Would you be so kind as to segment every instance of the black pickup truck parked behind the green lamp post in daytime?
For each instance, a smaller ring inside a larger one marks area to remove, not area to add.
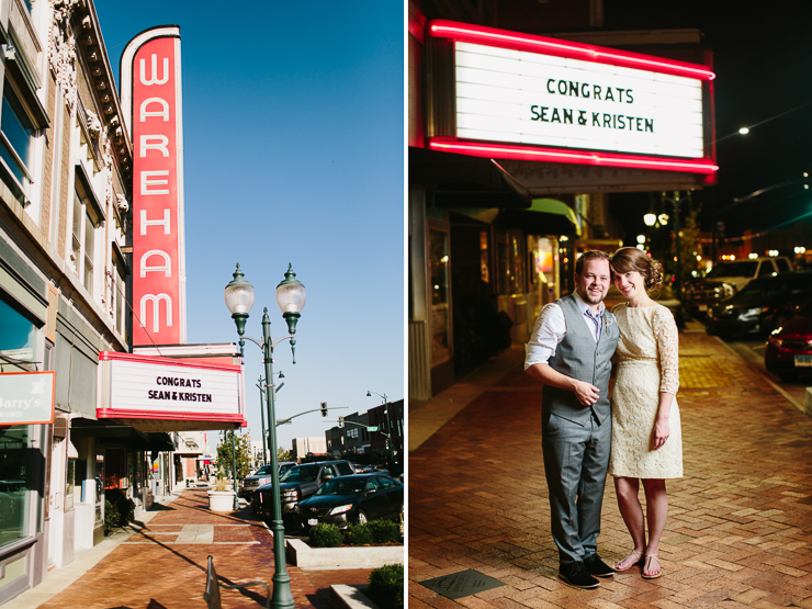
[[[289,527],[298,525],[295,509],[298,501],[313,495],[328,480],[349,476],[356,471],[349,461],[319,461],[291,467],[279,478],[282,520]],[[270,520],[273,518],[273,485],[260,486],[251,499],[251,514]]]

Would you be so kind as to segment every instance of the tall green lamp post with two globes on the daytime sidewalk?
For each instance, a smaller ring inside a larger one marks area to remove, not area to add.
[[[271,338],[271,318],[268,316],[268,308],[262,314],[262,340],[257,340],[245,336],[246,322],[248,314],[253,306],[253,286],[245,280],[245,275],[239,270],[234,272],[234,279],[226,285],[225,300],[232,318],[237,325],[239,335],[239,352],[244,357],[245,340],[248,339],[260,349],[264,356],[266,366],[266,401],[268,405],[268,442],[271,452],[271,484],[273,501],[273,519],[271,520],[271,531],[273,533],[273,596],[271,602],[275,609],[294,609],[293,594],[291,593],[291,577],[287,575],[285,565],[285,539],[284,525],[282,523],[282,506],[280,505],[279,492],[279,462],[277,455],[277,425],[274,413],[275,387],[273,385],[273,348],[282,340],[290,339],[291,351],[293,352],[293,363],[295,359],[296,322],[305,304],[305,287],[296,280],[296,273],[291,266],[287,267],[285,279],[277,286],[277,304],[282,311],[282,316],[287,322],[287,336],[277,341]]]

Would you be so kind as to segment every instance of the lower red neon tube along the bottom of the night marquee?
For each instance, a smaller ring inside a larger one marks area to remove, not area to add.
[[[571,162],[604,167],[628,167],[639,169],[659,169],[685,171],[688,173],[713,174],[719,166],[709,159],[670,159],[661,157],[636,157],[616,153],[579,151],[564,148],[535,148],[510,144],[492,144],[458,139],[454,137],[433,137],[429,148],[446,153],[458,153],[474,157],[495,157],[514,160],[542,160],[546,162]]]

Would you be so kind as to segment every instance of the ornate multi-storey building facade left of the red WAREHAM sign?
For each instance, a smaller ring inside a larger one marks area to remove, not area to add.
[[[129,196],[132,179],[123,178],[131,146],[117,127],[120,106],[92,1],[37,1],[29,11],[20,0],[0,0],[0,26],[9,38],[0,53],[7,101],[0,111],[7,135],[0,143],[0,327],[31,327],[22,347],[0,332],[0,363],[3,373],[54,370],[57,385],[55,425],[0,427],[1,439],[22,441],[31,459],[22,529],[0,530],[2,604],[100,540],[97,476],[104,449],[72,429],[78,419],[95,418],[99,351],[128,350],[108,279],[116,270],[112,241],[119,248],[128,241],[131,223],[117,195]],[[77,188],[83,190],[79,203]],[[94,237],[87,258],[82,228],[75,256],[75,207]],[[117,268],[126,281],[126,261]],[[125,464],[133,462],[122,454]]]

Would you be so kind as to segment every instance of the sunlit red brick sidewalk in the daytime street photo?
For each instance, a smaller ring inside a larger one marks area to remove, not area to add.
[[[207,556],[226,584],[266,582],[273,590],[273,538],[248,508],[208,510],[205,489],[185,490],[145,528],[41,609],[199,609]],[[331,584],[366,584],[370,569],[302,571],[287,565],[297,608],[327,609]],[[34,588],[36,590],[36,588]],[[223,607],[264,607],[262,586],[221,590]]]

